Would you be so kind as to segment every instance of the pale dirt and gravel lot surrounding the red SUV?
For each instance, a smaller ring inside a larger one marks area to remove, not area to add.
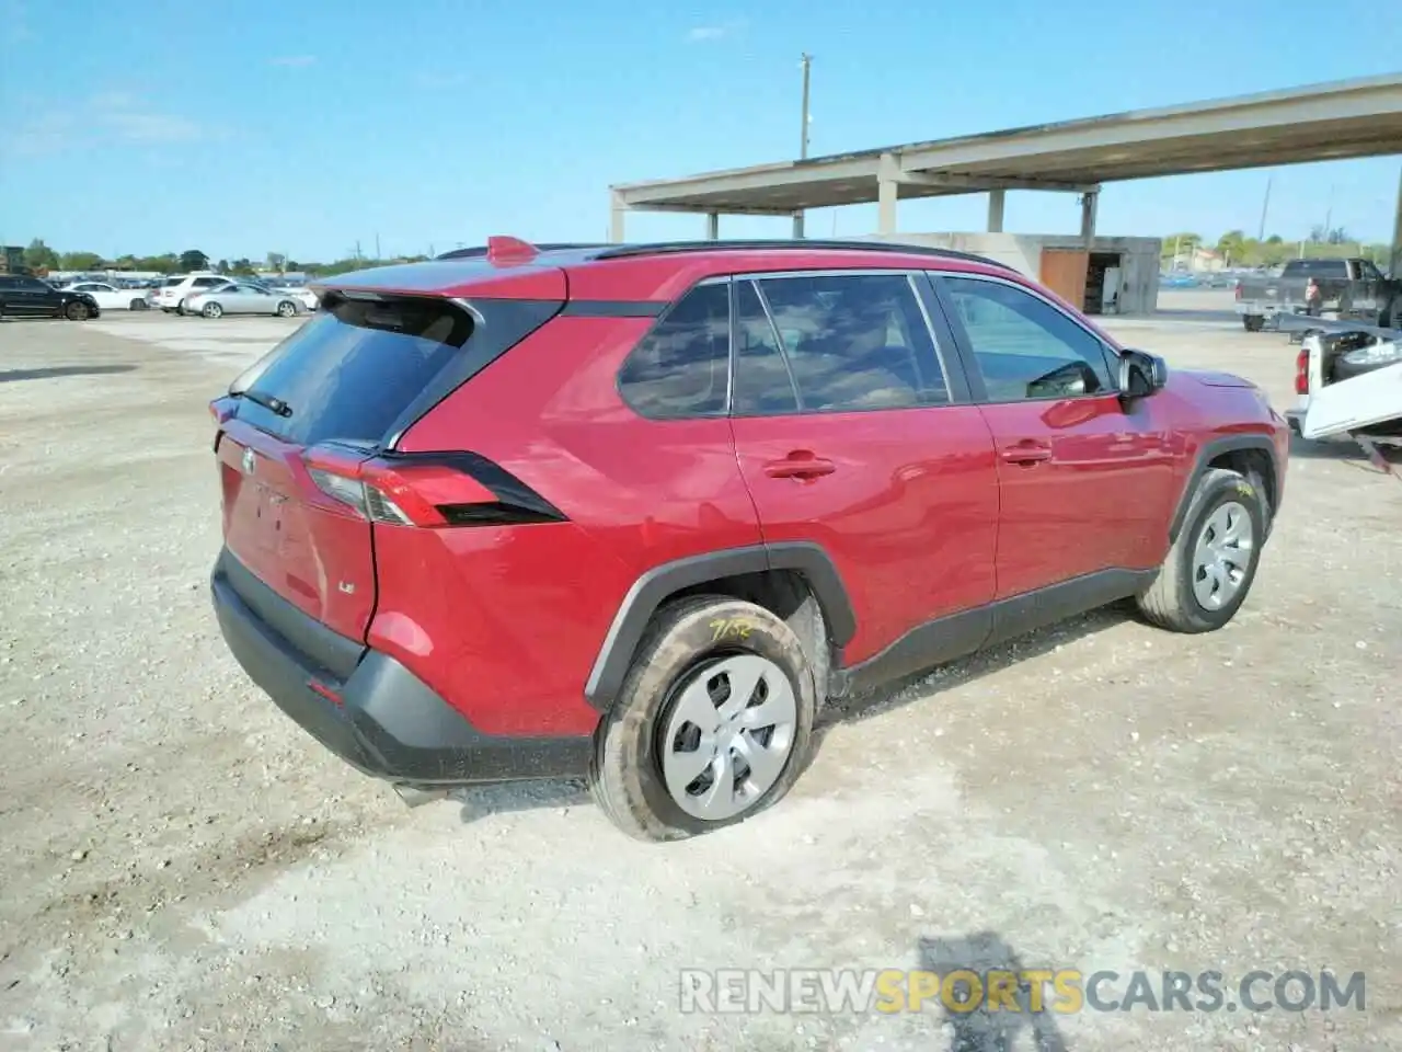
[[[1110,328],[1290,404],[1224,299]],[[1364,1011],[1088,1010],[1009,1052],[1402,1048],[1402,483],[1352,447],[1298,452],[1227,630],[1101,613],[949,666],[830,713],[782,807],[648,847],[572,785],[409,811],[238,673],[205,404],[285,330],[0,324],[0,1048],[974,1052],[934,1009],[681,1014],[679,972],[997,951],[1367,973]]]

